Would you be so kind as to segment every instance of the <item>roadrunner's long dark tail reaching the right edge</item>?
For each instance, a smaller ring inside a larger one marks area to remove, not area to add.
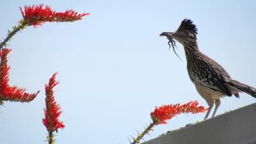
[[[228,84],[230,86],[233,86],[234,88],[237,88],[238,90],[241,90],[245,93],[248,93],[249,95],[252,95],[256,98],[256,89],[252,86],[248,86],[246,84],[240,83],[239,81],[231,79]]]

